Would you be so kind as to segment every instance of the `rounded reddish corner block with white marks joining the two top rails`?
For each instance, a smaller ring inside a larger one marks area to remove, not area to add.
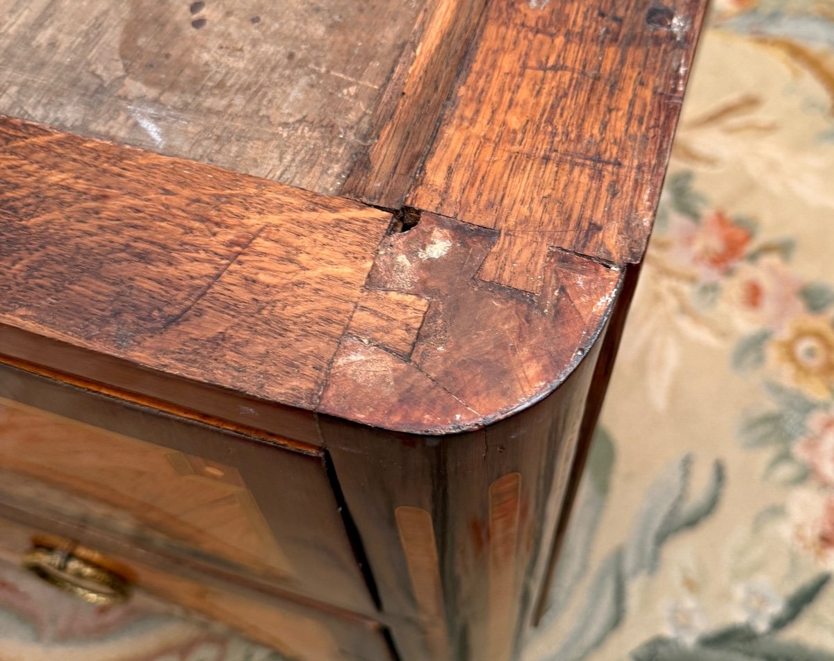
[[[395,432],[483,428],[551,393],[590,352],[622,272],[558,248],[539,293],[480,279],[499,232],[424,213],[384,239],[317,411]]]

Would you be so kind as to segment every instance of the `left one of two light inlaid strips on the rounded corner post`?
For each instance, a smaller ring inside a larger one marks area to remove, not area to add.
[[[394,515],[431,658],[433,661],[447,661],[450,659],[449,635],[431,515],[425,509],[408,506],[396,508]]]

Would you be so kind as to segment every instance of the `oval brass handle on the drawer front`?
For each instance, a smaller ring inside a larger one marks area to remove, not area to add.
[[[35,546],[23,556],[23,567],[64,592],[100,606],[124,603],[128,583],[118,574],[68,550]]]

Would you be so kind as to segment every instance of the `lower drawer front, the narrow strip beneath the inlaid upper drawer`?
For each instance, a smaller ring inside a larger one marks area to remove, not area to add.
[[[12,511],[4,509],[3,516]],[[43,519],[38,523],[43,523]],[[186,578],[159,564],[149,563],[151,556],[147,553],[141,562],[116,553],[101,553],[99,549],[82,546],[71,538],[43,533],[42,529],[33,528],[29,523],[0,517],[0,562],[18,566],[28,562],[31,565],[33,549],[46,553],[56,551],[84,569],[94,568],[96,573],[105,576],[125,578],[128,605],[133,600],[142,600],[143,593],[150,593],[165,602],[238,629],[287,658],[299,661],[392,661],[382,628],[374,621],[349,613],[311,608],[304,603],[251,590],[236,591],[234,586],[211,580]],[[160,560],[160,563],[164,564],[164,561]],[[73,583],[77,573],[80,572],[62,573],[65,577],[62,582]],[[90,578],[78,580],[84,589],[96,587]],[[55,589],[69,591],[66,586]],[[37,608],[38,604],[34,606]],[[119,605],[110,608],[119,608]]]

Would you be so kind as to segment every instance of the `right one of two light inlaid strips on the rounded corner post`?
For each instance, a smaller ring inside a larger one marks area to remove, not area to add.
[[[510,658],[514,638],[521,473],[490,485],[490,659]]]

